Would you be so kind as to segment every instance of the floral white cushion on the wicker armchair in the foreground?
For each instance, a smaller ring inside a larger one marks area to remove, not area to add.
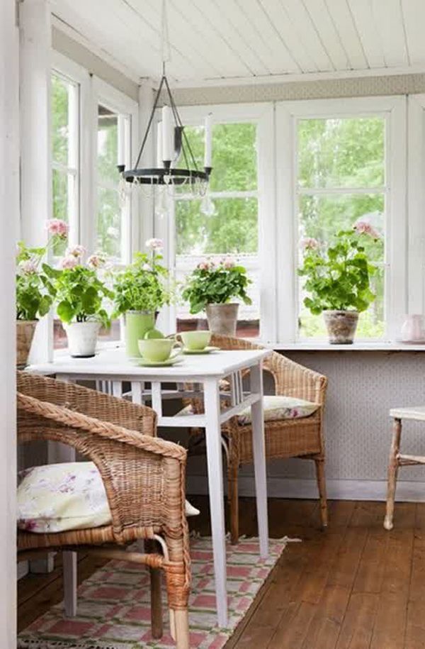
[[[63,462],[21,472],[18,528],[47,533],[110,525],[105,487],[94,462]],[[186,516],[198,509],[186,501]]]

